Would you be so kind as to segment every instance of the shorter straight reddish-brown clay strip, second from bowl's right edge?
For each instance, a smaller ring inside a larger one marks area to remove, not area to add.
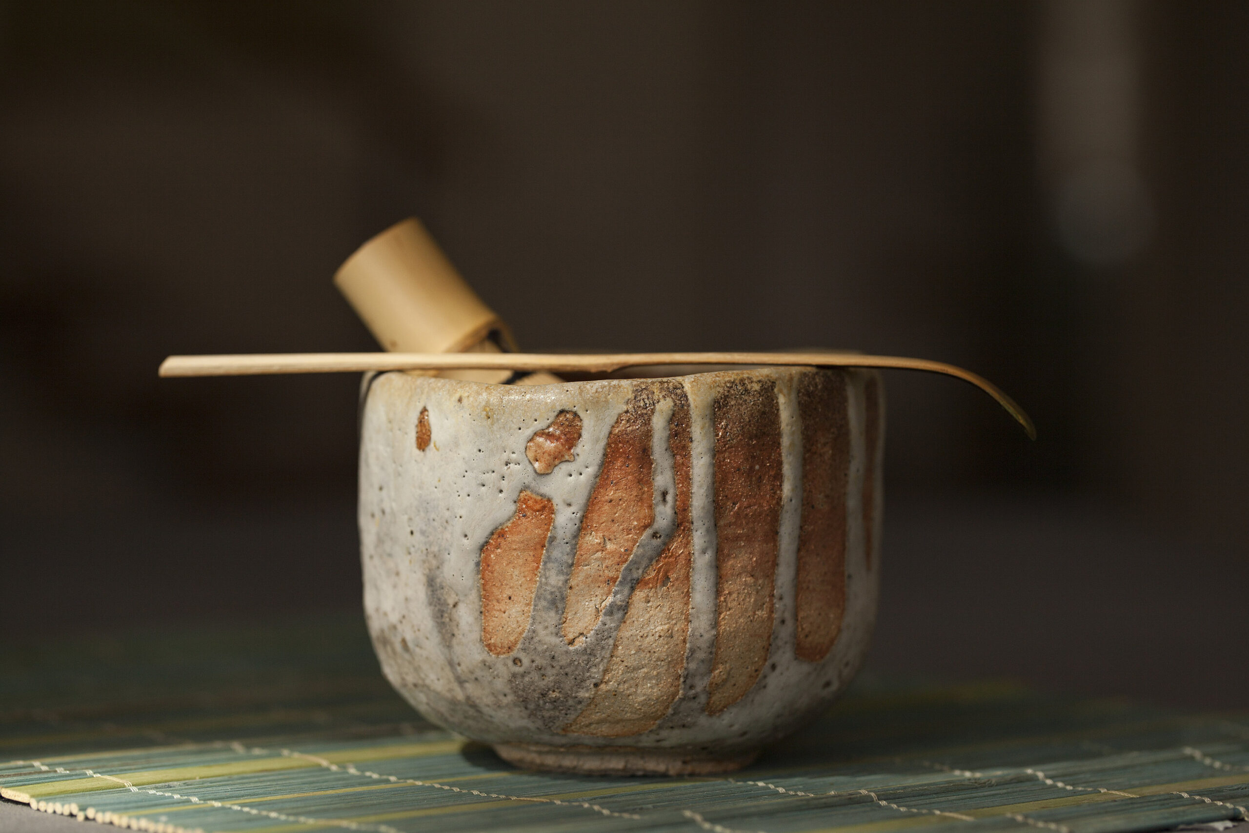
[[[798,383],[802,420],[802,523],[798,527],[799,659],[823,659],[846,612],[846,476],[851,433],[846,376],[813,373]]]

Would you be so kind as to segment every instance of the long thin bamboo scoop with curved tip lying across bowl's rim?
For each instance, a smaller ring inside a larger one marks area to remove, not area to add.
[[[953,376],[980,388],[1013,416],[1033,440],[1037,428],[1019,405],[983,376],[955,365],[906,358],[822,351],[802,352],[662,352],[662,353],[270,353],[236,356],[170,356],[160,366],[164,377],[264,376],[277,373],[358,373],[395,370],[508,370],[607,373],[646,365],[782,365],[814,367],[883,367]]]

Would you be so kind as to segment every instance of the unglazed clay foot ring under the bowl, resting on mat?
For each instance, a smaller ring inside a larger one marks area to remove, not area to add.
[[[759,757],[758,749],[738,756],[708,757],[681,751],[546,747],[532,743],[496,743],[495,752],[521,769],[581,776],[716,776],[736,772]]]

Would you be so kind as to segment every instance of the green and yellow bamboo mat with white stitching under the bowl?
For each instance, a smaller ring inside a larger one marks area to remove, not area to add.
[[[1249,714],[862,678],[717,778],[528,773],[425,723],[358,617],[0,647],[0,789],[145,831],[1112,833],[1249,816]]]

